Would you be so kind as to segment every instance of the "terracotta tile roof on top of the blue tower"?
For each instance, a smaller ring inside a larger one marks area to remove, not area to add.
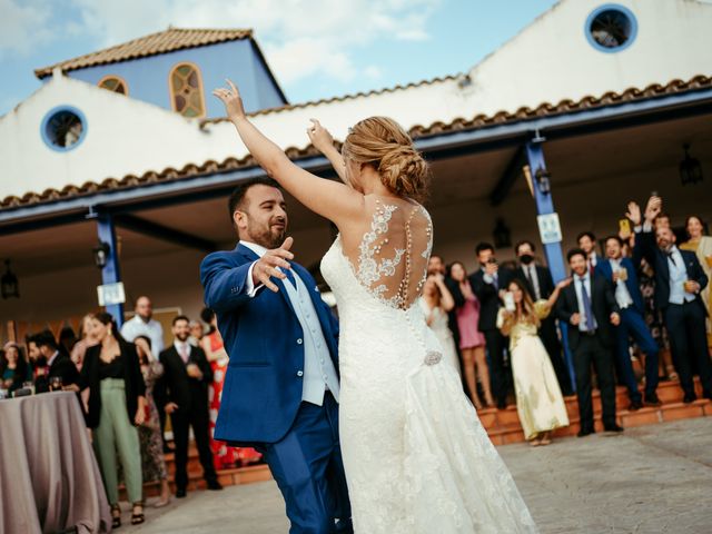
[[[57,67],[62,72],[83,69],[96,65],[115,63],[127,59],[145,58],[157,53],[172,52],[185,48],[196,48],[217,42],[251,39],[253,30],[219,30],[219,29],[181,29],[168,28],[165,31],[140,37],[115,47],[87,53],[78,58],[68,59],[59,63],[34,70],[34,76],[44,78]]]

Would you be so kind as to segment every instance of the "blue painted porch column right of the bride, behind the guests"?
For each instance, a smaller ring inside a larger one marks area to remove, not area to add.
[[[542,192],[541,186],[536,180],[536,172],[540,169],[542,171],[546,170],[546,160],[544,159],[543,149],[544,140],[545,139],[540,137],[537,134],[534,139],[526,144],[526,159],[528,161],[530,170],[532,174],[532,190],[534,191],[534,201],[536,202],[537,215],[548,215],[556,212],[556,210],[554,209],[554,198],[551,192],[551,184],[550,191]],[[564,261],[564,253],[561,248],[561,241],[544,244],[544,254],[546,255],[546,261],[552,273],[552,277],[554,278],[554,284],[557,284],[566,278],[566,263]],[[558,327],[561,328],[561,339],[564,346],[564,359],[566,362],[566,368],[568,369],[568,377],[571,378],[571,387],[575,392],[576,377],[574,375],[574,366],[571,359],[571,350],[568,349],[568,325],[560,322]]]

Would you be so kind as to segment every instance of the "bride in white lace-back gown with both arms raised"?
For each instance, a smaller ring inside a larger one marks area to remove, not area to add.
[[[251,125],[235,85],[214,91],[243,142],[339,237],[322,271],[340,316],[342,455],[357,533],[537,532],[417,305],[433,245],[427,164],[395,121],[355,125],[342,154],[307,135],[345,184],[294,165]]]

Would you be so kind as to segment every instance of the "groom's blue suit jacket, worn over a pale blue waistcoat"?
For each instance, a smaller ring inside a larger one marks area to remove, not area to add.
[[[212,253],[200,265],[205,303],[217,314],[230,360],[215,437],[236,444],[275,443],[291,427],[301,403],[303,330],[281,280],[279,293],[246,293],[257,255],[244,245]],[[334,366],[338,369],[338,325],[316,281],[301,266],[293,270],[309,288]]]

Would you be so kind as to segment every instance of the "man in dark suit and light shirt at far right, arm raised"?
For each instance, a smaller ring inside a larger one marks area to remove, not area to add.
[[[655,270],[655,307],[662,310],[670,337],[672,359],[680,375],[683,400],[691,403],[694,393],[693,368],[696,365],[702,392],[712,399],[712,363],[705,334],[706,310],[700,297],[709,280],[698,256],[675,246],[675,234],[659,226],[651,231],[661,202],[647,202],[645,225],[641,228],[641,210],[629,204],[629,218],[635,225],[635,248]]]

